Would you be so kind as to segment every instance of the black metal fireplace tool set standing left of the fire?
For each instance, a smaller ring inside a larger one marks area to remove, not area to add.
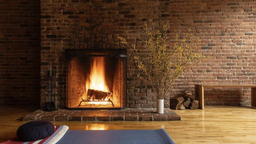
[[[48,70],[47,78],[47,103],[43,111],[56,111],[58,110],[55,107],[56,70]]]

